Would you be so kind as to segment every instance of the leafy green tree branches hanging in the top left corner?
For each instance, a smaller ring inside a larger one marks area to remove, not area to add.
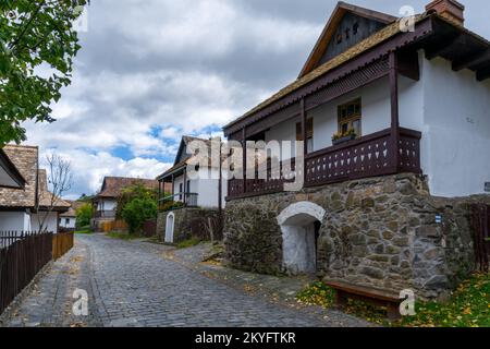
[[[21,123],[53,122],[81,46],[73,26],[87,0],[0,1],[0,148],[26,140]]]

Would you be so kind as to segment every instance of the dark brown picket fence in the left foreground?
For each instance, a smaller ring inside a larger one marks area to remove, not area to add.
[[[50,232],[0,232],[0,314],[51,257]]]

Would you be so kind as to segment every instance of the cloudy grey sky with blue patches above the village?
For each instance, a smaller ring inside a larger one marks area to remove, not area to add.
[[[353,0],[399,14],[429,0]],[[467,26],[490,27],[481,0],[464,0]],[[26,124],[26,144],[72,161],[69,198],[103,176],[155,178],[182,134],[208,137],[296,79],[332,0],[93,0],[73,84],[52,124]],[[42,157],[42,155],[41,155]]]

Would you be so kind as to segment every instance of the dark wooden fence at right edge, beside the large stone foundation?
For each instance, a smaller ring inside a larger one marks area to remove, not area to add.
[[[471,205],[471,229],[477,267],[481,272],[488,272],[490,267],[490,205]]]

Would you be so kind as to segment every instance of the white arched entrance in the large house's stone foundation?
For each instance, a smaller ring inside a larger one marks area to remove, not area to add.
[[[283,267],[291,274],[317,268],[318,231],[326,210],[310,202],[292,204],[278,216],[282,232]]]

